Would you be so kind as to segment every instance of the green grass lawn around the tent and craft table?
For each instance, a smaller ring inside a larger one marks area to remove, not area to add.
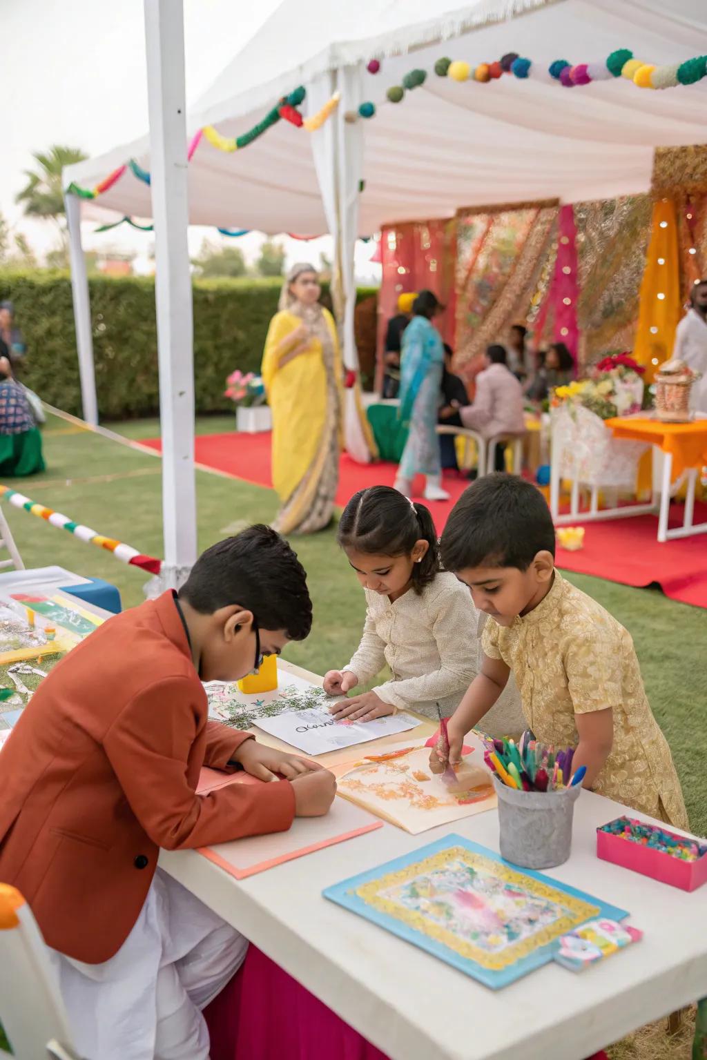
[[[197,421],[197,431],[202,434],[232,428],[233,417]],[[132,421],[112,425],[112,429],[140,440],[156,437],[159,422]],[[45,430],[45,454],[47,471],[42,475],[4,484],[99,533],[118,537],[142,552],[162,555],[161,462],[157,457],[71,427],[56,418],[50,418]],[[243,525],[268,523],[275,515],[276,498],[268,490],[206,472],[197,472],[196,485],[201,549]],[[112,582],[121,591],[124,606],[143,600],[142,586],[148,576],[142,571],[28,512],[7,504],[4,511],[28,567],[58,564]],[[365,615],[364,595],[339,553],[333,530],[298,538],[295,547],[307,570],[315,624],[308,640],[290,644],[285,656],[322,673],[343,665],[357,646]],[[707,611],[675,603],[654,589],[629,588],[581,575],[568,577],[633,634],[653,711],[672,747],[691,827],[704,835],[707,789],[701,778],[707,753],[703,661]],[[619,1055],[643,1054],[640,1048],[633,1052],[632,1045],[630,1052]]]

